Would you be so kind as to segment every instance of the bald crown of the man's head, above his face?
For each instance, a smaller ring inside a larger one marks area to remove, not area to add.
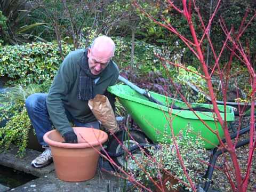
[[[103,35],[94,39],[91,50],[92,52],[98,52],[99,54],[113,57],[115,53],[115,43],[110,37]]]

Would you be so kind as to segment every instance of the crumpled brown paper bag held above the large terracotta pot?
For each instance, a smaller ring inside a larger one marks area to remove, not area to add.
[[[97,94],[94,99],[89,100],[88,105],[93,115],[108,132],[113,134],[119,130],[114,111],[105,95]]]

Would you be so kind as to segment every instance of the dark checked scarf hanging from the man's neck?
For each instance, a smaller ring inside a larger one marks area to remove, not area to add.
[[[94,79],[100,77],[102,72],[99,75],[93,75],[89,69],[87,50],[83,53],[81,62],[78,62],[78,65],[81,67],[79,73],[79,82],[78,82],[78,99],[79,100],[89,100],[95,97],[93,90]]]

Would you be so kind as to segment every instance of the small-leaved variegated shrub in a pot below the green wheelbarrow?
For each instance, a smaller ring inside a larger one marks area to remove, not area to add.
[[[202,175],[207,168],[204,162],[208,156],[202,139],[193,138],[189,131],[189,126],[186,130],[181,130],[175,137],[175,142],[186,172],[195,184],[204,180]],[[191,190],[174,145],[174,138],[171,137],[170,143],[170,137],[164,134],[164,141],[157,147],[148,147],[146,152],[142,151],[142,155],[133,160],[134,166],[130,171],[137,181],[153,191],[179,191],[180,188]]]

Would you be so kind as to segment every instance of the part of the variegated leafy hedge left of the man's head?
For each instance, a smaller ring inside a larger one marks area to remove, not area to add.
[[[66,55],[71,46],[63,45],[62,49]],[[0,49],[0,58],[0,74],[11,78],[9,84],[21,85],[41,84],[53,78],[61,63],[56,43],[4,46]]]

